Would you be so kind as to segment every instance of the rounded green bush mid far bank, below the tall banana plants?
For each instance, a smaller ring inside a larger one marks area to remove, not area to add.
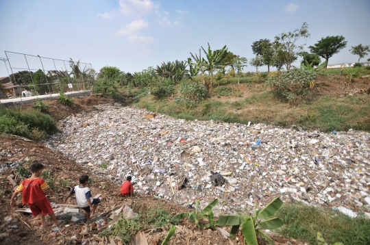
[[[184,81],[180,85],[182,96],[175,98],[176,103],[185,103],[189,107],[194,107],[199,101],[208,96],[206,87],[200,81]]]

